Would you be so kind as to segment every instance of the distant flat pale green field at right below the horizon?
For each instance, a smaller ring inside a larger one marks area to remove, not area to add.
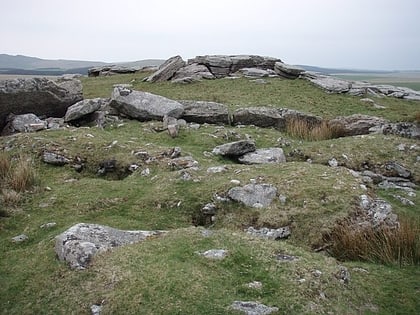
[[[393,73],[338,73],[334,76],[353,81],[367,81],[374,84],[389,84],[420,91],[420,71]]]

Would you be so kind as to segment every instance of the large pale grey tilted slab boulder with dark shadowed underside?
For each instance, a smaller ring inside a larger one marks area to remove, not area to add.
[[[110,106],[140,121],[162,120],[165,115],[179,118],[184,113],[184,107],[176,101],[118,86],[114,88]]]

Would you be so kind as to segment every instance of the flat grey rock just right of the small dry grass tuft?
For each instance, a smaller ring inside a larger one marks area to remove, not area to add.
[[[355,136],[368,134],[371,132],[371,128],[380,127],[387,122],[388,121],[380,117],[354,114],[334,118],[330,120],[330,126],[341,129],[346,136]]]

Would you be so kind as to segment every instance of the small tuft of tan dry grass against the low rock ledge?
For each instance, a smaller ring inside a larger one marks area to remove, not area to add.
[[[286,122],[286,132],[298,139],[309,141],[328,140],[340,137],[343,132],[336,126],[331,126],[328,121],[312,124],[306,120],[292,118]]]

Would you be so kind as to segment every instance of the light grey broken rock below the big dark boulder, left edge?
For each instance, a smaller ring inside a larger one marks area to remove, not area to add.
[[[18,132],[35,132],[43,129],[47,129],[47,123],[39,119],[35,114],[10,114],[1,134],[6,136]]]

